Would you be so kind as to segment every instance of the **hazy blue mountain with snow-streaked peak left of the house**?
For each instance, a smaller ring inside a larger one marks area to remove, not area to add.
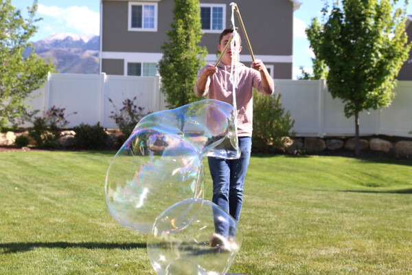
[[[98,74],[99,36],[61,32],[33,42],[34,52],[50,58],[60,73]],[[25,55],[30,50],[25,51]]]

